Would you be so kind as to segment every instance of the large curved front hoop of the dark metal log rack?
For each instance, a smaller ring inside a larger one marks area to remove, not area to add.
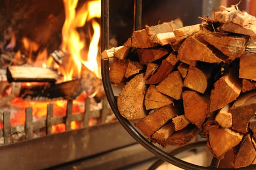
[[[109,0],[101,0],[101,52],[103,52],[108,47],[109,41]],[[110,104],[111,109],[113,110],[116,118],[119,120],[119,123],[125,128],[125,130],[140,143],[144,148],[154,153],[158,158],[166,161],[172,165],[183,169],[195,169],[195,170],[203,170],[203,169],[222,169],[222,170],[231,170],[234,168],[217,168],[217,167],[203,167],[188,163],[181,159],[178,159],[164,150],[158,148],[156,145],[150,143],[144,136],[142,136],[137,129],[129,122],[129,120],[123,118],[119,113],[117,108],[116,98],[114,96],[112,86],[109,78],[109,59],[101,59],[101,76],[103,87]],[[247,167],[236,168],[236,170],[248,170],[248,169],[256,169],[256,165],[250,165]]]

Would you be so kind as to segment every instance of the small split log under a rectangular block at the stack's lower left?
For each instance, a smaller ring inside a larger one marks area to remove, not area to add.
[[[165,141],[169,136],[175,132],[173,123],[168,123],[159,128],[153,135],[153,140]]]

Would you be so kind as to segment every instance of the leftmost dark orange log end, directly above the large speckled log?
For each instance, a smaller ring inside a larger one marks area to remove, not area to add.
[[[111,83],[123,83],[125,78],[125,72],[127,68],[127,62],[124,60],[114,59],[109,70],[109,78]]]

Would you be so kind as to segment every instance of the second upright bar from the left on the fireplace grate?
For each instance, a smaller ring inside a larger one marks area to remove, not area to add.
[[[32,108],[26,108],[26,123],[25,123],[25,133],[26,139],[33,138],[33,115],[32,115]]]

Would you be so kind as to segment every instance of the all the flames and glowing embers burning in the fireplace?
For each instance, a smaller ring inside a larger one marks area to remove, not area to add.
[[[100,19],[101,9],[100,0],[86,1],[82,6],[78,7],[78,0],[63,0],[65,6],[65,22],[62,27],[62,43],[60,50],[68,54],[67,66],[60,67],[59,70],[63,75],[63,80],[71,80],[79,78],[82,64],[100,77],[97,58],[99,58],[99,40],[100,40],[100,24],[97,20]],[[79,31],[80,30],[80,31]],[[81,31],[83,30],[83,31]],[[40,49],[39,44],[31,41],[29,38],[21,39],[23,51],[28,56],[27,63],[33,64],[36,67],[54,68],[57,63],[53,58],[49,57],[46,48]],[[89,43],[90,42],[90,45]],[[7,48],[15,46],[15,36],[12,35],[12,41]],[[35,52],[37,56],[35,55]],[[21,50],[14,57],[14,64],[19,65],[23,62]],[[36,58],[36,59],[35,59]],[[16,63],[17,61],[17,63]],[[30,83],[23,83],[30,86]],[[84,107],[81,107],[81,102],[85,101],[87,95],[82,93],[77,100],[73,101],[73,114],[84,112]],[[24,101],[15,98],[11,101],[16,108],[21,108],[15,113],[15,118],[11,120],[11,126],[25,124],[25,108],[33,106],[33,116],[35,118],[45,118],[47,112],[47,104],[53,104],[54,116],[63,116],[66,112],[67,101]],[[90,125],[93,124],[90,121]],[[0,128],[1,128],[0,124]],[[71,122],[71,129],[79,128],[79,122]],[[64,132],[65,124],[52,126],[52,133]]]

